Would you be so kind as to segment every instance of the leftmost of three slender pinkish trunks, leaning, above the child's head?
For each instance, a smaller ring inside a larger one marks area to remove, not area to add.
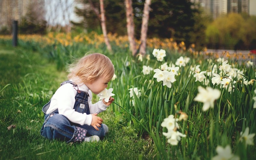
[[[105,23],[105,10],[104,10],[103,0],[100,0],[100,16],[101,16],[100,22],[101,22],[102,33],[104,36],[104,41],[105,41],[105,44],[107,45],[108,51],[112,52],[112,48],[111,48],[111,45],[110,45],[109,39],[108,39],[106,23]]]

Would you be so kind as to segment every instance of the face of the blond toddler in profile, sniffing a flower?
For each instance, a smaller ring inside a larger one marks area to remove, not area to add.
[[[99,94],[101,91],[108,87],[108,81],[100,77],[91,84],[86,85],[92,91],[92,93]]]

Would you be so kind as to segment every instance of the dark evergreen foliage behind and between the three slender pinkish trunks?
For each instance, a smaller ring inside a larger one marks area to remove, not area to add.
[[[92,0],[95,8],[99,10],[99,1]],[[135,36],[140,38],[141,19],[145,0],[133,0],[133,12],[135,23]],[[88,0],[84,0],[89,4]],[[194,13],[197,9],[191,8],[189,0],[152,0],[150,5],[148,37],[174,38],[176,41],[184,41],[189,44],[189,32],[193,31],[195,24]],[[124,1],[104,1],[106,25],[108,32],[118,35],[126,34],[126,16]],[[100,21],[93,11],[77,10],[83,15],[87,28],[99,28]]]

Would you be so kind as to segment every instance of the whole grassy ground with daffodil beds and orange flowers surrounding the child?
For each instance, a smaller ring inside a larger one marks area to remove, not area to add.
[[[116,35],[113,53],[96,33],[19,37],[12,48],[10,36],[0,36],[2,159],[255,159],[252,55],[153,38],[146,56],[132,57],[127,37]],[[66,80],[67,65],[87,52],[104,53],[115,66],[108,84],[115,101],[100,114],[110,132],[99,143],[45,140],[41,108]]]

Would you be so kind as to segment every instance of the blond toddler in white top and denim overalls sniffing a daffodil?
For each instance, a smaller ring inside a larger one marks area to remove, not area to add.
[[[99,94],[108,87],[115,69],[111,60],[100,53],[89,54],[69,67],[68,81],[60,84],[51,100],[44,105],[41,135],[49,140],[99,141],[108,126],[97,116],[114,101],[92,104],[92,92]]]

